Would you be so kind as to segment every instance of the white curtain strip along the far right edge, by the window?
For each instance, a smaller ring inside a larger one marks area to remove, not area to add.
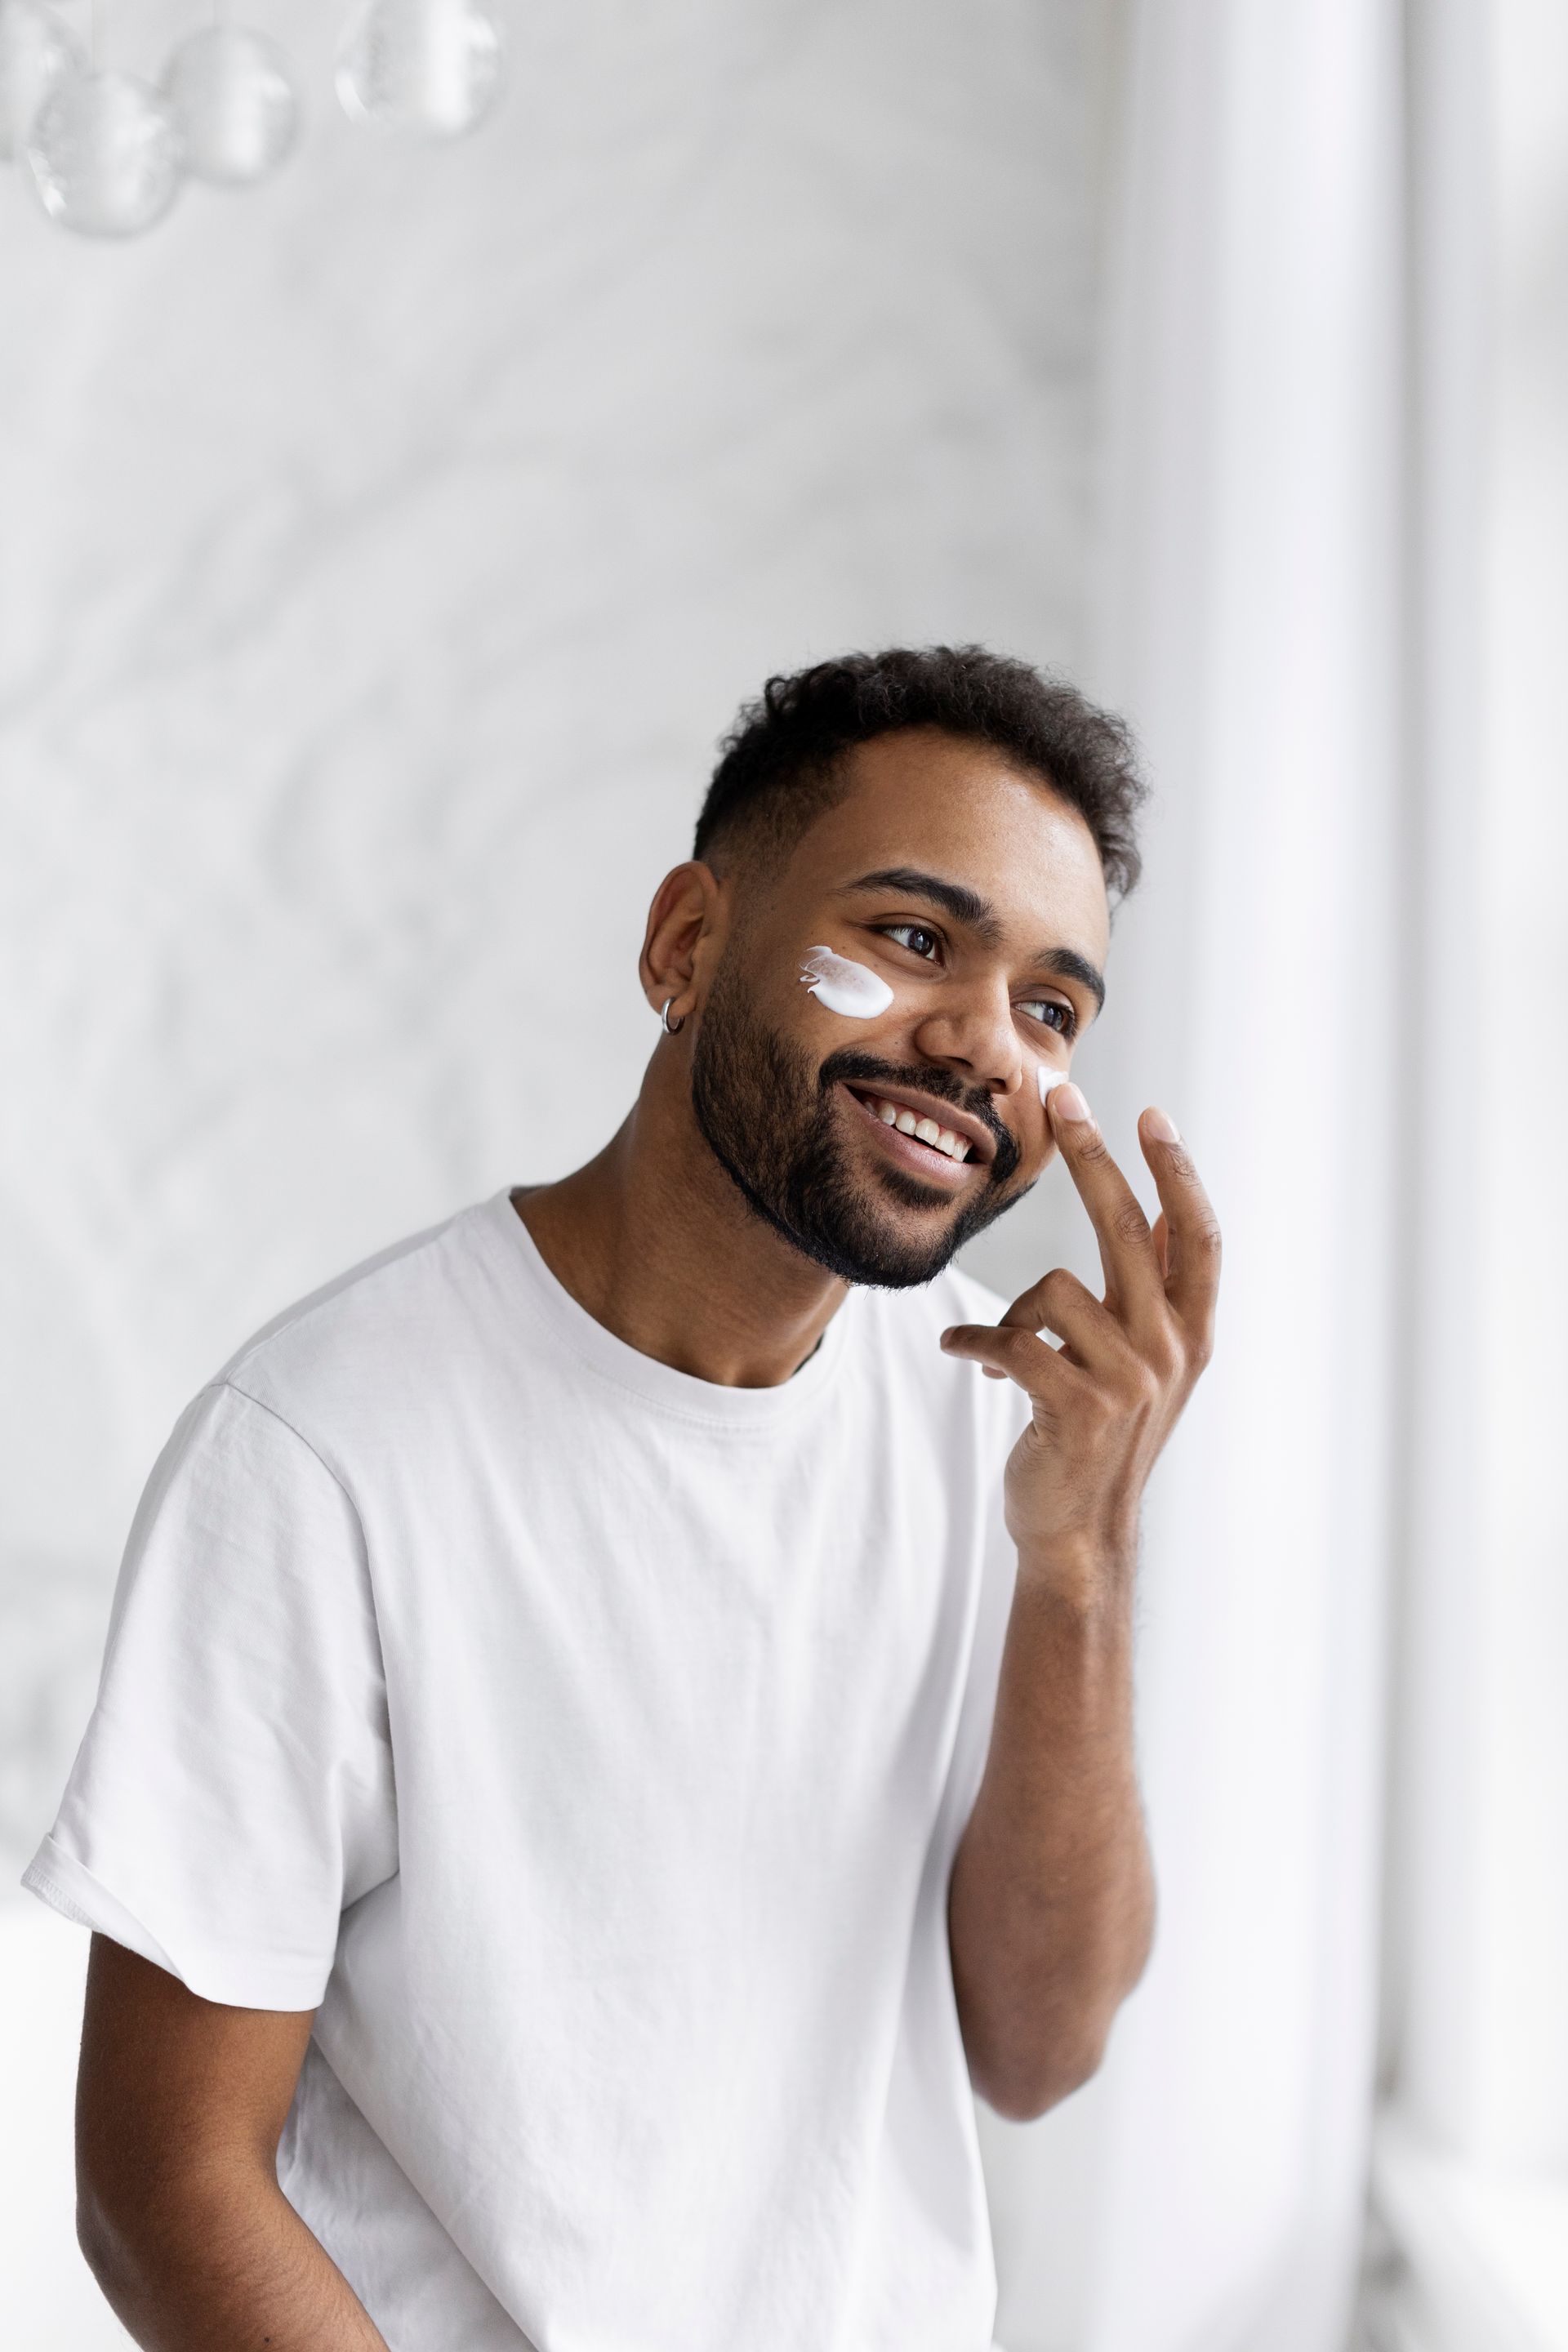
[[[1415,28],[1415,985],[1436,1018],[1413,1056],[1368,2345],[1561,2352],[1568,16],[1561,0],[1425,0]]]

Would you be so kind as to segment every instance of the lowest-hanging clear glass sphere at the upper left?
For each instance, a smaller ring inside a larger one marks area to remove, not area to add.
[[[134,73],[73,73],[35,118],[28,162],[42,207],[61,228],[134,238],[162,221],[179,193],[179,129]]]

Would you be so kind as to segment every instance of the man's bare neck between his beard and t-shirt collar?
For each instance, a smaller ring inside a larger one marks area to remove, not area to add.
[[[604,1150],[515,1204],[595,1322],[719,1388],[788,1381],[849,1289],[748,1207],[691,1115],[684,1061],[665,1040]]]

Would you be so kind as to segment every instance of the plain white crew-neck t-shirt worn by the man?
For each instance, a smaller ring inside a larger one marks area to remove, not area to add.
[[[853,1291],[639,1355],[498,1192],[268,1324],[136,1512],[26,1884],[315,2009],[280,2180],[393,2352],[985,2352],[945,1926],[1025,1402]]]

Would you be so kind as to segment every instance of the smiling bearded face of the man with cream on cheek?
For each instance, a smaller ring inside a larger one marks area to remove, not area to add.
[[[691,1105],[759,1216],[846,1282],[898,1289],[1051,1160],[1039,1073],[1098,1011],[1110,910],[1084,818],[987,746],[905,729],[849,771],[776,884],[733,882]],[[813,995],[813,948],[875,974],[884,1009]],[[891,1120],[931,1120],[947,1148]]]

